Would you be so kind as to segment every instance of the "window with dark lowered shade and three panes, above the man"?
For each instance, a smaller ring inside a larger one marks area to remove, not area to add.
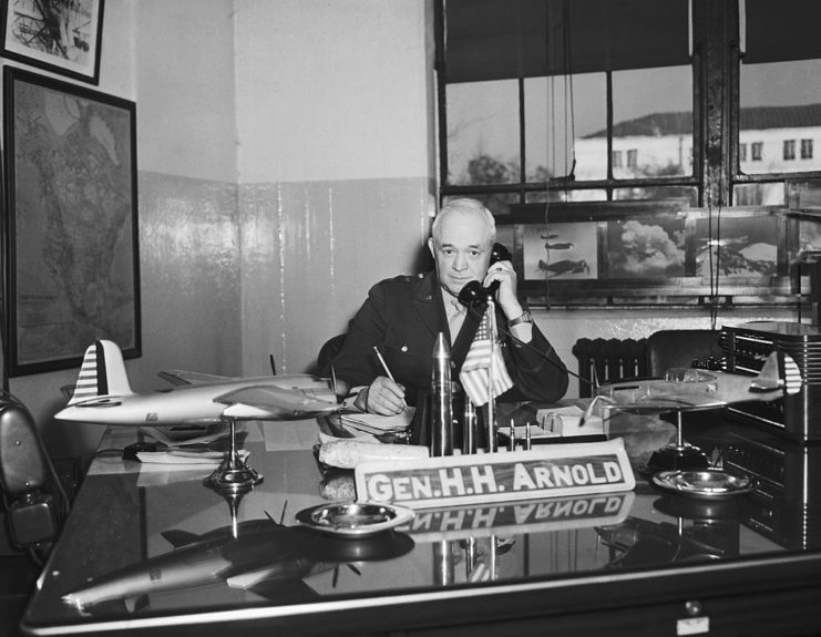
[[[492,198],[504,214],[696,192],[689,0],[437,7],[443,196]],[[620,140],[630,148],[615,151]]]

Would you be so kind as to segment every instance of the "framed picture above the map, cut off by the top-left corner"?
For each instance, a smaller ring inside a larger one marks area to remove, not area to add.
[[[3,0],[3,58],[96,84],[105,0]]]

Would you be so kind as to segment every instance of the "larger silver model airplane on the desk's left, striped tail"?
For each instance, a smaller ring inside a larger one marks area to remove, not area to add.
[[[309,374],[226,378],[161,372],[177,387],[134,393],[116,343],[99,340],[85,351],[68,405],[54,418],[92,424],[173,428],[238,420],[299,420],[341,405],[326,379]]]

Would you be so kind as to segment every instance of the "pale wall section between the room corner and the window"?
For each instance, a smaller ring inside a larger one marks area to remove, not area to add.
[[[434,206],[430,0],[236,2],[246,373],[310,369]]]

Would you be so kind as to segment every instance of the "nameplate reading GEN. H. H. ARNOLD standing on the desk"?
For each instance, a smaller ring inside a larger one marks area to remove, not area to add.
[[[633,491],[624,441],[543,445],[532,451],[365,462],[357,499],[412,508]]]

